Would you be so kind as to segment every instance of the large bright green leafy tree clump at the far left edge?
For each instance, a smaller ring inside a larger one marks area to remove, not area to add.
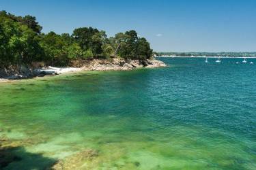
[[[0,13],[0,63],[2,67],[31,63],[42,56],[37,33]]]

